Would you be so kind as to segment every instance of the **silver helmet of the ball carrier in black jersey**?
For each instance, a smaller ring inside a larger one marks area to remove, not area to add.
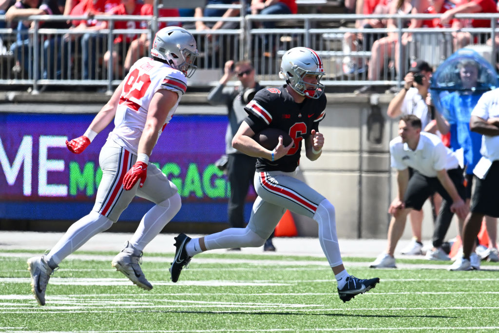
[[[306,83],[307,74],[317,76],[317,83]],[[324,75],[320,56],[308,47],[293,47],[282,56],[279,77],[298,94],[307,98],[319,98],[324,93],[324,85],[319,83]]]

